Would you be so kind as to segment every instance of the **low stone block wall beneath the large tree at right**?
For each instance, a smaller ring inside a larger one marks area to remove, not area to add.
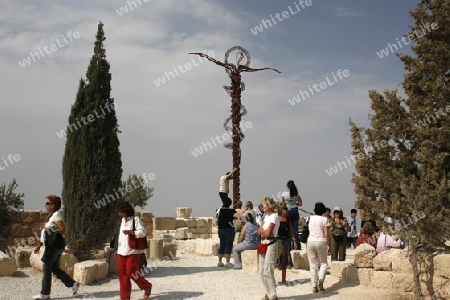
[[[450,254],[422,254],[418,260],[425,299],[450,299]],[[395,299],[414,299],[413,271],[407,249],[390,249],[376,255],[372,246],[363,244],[355,250],[354,263],[333,261],[330,273],[343,282],[393,290]]]

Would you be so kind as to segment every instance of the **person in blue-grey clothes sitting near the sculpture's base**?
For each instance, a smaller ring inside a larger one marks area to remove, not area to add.
[[[245,225],[242,226],[239,236],[239,244],[233,247],[234,267],[235,270],[242,269],[241,253],[244,250],[255,250],[258,248],[260,236],[257,233],[259,225],[256,223],[256,216],[253,210],[247,210],[243,218]]]

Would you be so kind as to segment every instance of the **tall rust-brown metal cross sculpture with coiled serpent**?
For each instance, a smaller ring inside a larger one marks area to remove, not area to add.
[[[228,58],[230,53],[233,51],[236,52],[236,64],[232,64],[228,62]],[[225,53],[224,62],[218,61],[205,53],[189,53],[194,55],[199,55],[200,57],[205,57],[209,61],[222,66],[225,68],[225,72],[231,79],[231,85],[224,85],[223,88],[231,97],[231,115],[225,120],[223,123],[223,127],[227,131],[232,132],[233,141],[232,143],[227,143],[224,145],[226,148],[232,149],[233,155],[233,169],[237,170],[233,173],[233,206],[240,199],[240,164],[241,164],[241,141],[245,138],[245,135],[242,133],[240,128],[240,122],[242,116],[247,114],[247,109],[241,103],[241,92],[245,90],[245,84],[241,81],[241,72],[256,72],[262,70],[273,70],[275,72],[281,73],[277,69],[273,68],[261,68],[261,69],[253,69],[250,68],[250,54],[247,50],[242,48],[241,46],[234,46],[227,50]],[[245,61],[243,62],[243,59]],[[243,62],[241,64],[241,62]],[[231,121],[231,127],[228,123]]]

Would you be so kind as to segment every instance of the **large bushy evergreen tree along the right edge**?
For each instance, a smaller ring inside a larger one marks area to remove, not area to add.
[[[357,159],[352,181],[362,215],[407,240],[414,294],[421,299],[422,254],[449,239],[450,0],[423,0],[410,14],[415,24],[405,38],[414,40],[415,56],[399,55],[407,97],[370,91],[369,128],[350,120]]]

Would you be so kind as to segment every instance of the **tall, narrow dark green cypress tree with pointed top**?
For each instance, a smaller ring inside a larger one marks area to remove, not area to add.
[[[100,208],[94,203],[105,195],[113,195],[122,183],[120,131],[114,100],[110,97],[111,73],[104,40],[100,22],[86,79],[80,80],[70,111],[63,158],[66,237],[81,261],[89,258],[91,249],[100,249],[112,236],[117,203],[105,202]]]

